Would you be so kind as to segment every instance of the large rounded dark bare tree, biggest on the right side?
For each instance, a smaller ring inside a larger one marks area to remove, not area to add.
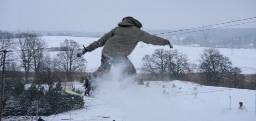
[[[218,86],[223,77],[231,68],[231,61],[228,57],[223,56],[219,50],[215,48],[205,49],[201,54],[199,61],[199,71],[204,78],[202,81],[207,85]]]

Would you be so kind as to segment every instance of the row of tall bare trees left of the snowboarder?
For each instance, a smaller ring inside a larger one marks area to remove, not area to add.
[[[74,40],[60,43],[61,51],[55,57],[50,57],[48,43],[36,33],[13,35],[0,30],[0,44],[0,51],[9,51],[6,54],[7,71],[14,73],[22,70],[26,80],[31,71],[35,73],[35,78],[52,81],[57,80],[56,72],[65,72],[65,79],[72,80],[73,73],[86,69],[86,60],[76,57],[80,46]],[[3,53],[0,53],[0,68],[2,65]]]

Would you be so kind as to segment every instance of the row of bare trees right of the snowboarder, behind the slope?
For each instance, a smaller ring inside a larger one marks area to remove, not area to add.
[[[198,74],[200,84],[219,86],[230,83],[234,88],[240,88],[245,77],[241,68],[233,67],[230,59],[216,48],[206,48],[197,60],[198,65],[189,63],[186,54],[178,50],[157,49],[153,54],[145,55],[142,59],[141,70],[154,75],[153,79],[160,80],[192,80],[190,74]],[[256,74],[251,77],[255,81]],[[152,79],[152,76],[151,76]],[[144,78],[148,80],[148,78]],[[256,82],[256,81],[255,81]],[[256,85],[255,88],[256,89]]]

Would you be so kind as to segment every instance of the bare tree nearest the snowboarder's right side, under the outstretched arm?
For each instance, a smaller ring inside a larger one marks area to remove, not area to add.
[[[163,49],[155,50],[154,53],[149,56],[145,55],[142,58],[143,65],[141,70],[147,73],[154,74],[163,80],[164,75],[168,74],[167,67],[169,63],[169,51],[164,51]]]

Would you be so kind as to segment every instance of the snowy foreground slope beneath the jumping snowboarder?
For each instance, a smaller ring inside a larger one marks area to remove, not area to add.
[[[145,83],[145,82],[144,82]],[[185,81],[150,81],[149,86],[104,80],[85,108],[43,116],[47,121],[255,121],[253,90],[202,86]],[[76,88],[82,84],[74,82]],[[230,103],[231,97],[231,103]],[[238,111],[243,102],[246,111]],[[231,105],[230,105],[231,104]],[[231,109],[230,109],[231,108]],[[14,117],[4,121],[25,121]],[[33,121],[28,120],[27,121]],[[69,120],[68,120],[69,121]]]

